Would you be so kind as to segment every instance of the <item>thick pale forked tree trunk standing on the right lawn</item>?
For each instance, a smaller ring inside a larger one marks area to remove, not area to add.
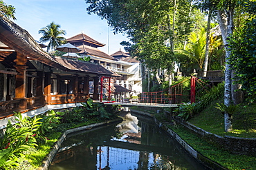
[[[218,21],[219,28],[221,29],[221,36],[223,39],[223,44],[226,50],[226,70],[225,70],[225,92],[224,92],[224,105],[229,106],[231,104],[231,70],[229,57],[231,54],[230,47],[228,46],[228,38],[232,35],[233,28],[233,9],[230,8],[229,11],[225,12],[223,10],[218,10]],[[224,125],[225,131],[232,131],[232,116],[228,113],[224,114]]]

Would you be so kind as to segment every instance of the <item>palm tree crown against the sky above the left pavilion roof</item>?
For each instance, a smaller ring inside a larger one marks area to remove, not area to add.
[[[66,39],[62,36],[66,34],[65,30],[60,30],[60,25],[51,22],[46,27],[42,28],[38,31],[39,34],[43,34],[43,36],[39,39],[39,41],[47,42],[47,52],[49,50],[55,50],[57,46],[62,45]]]

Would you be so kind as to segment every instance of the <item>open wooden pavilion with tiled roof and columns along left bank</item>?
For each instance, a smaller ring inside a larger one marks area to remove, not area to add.
[[[89,97],[99,100],[101,76],[112,75],[95,63],[50,56],[26,30],[0,17],[0,120],[13,111],[62,107]],[[92,94],[89,82],[93,82]]]

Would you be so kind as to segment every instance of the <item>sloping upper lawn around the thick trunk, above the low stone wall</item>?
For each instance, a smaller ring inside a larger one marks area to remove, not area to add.
[[[196,114],[190,122],[196,127],[219,136],[235,136],[240,138],[256,138],[256,105],[247,107],[240,105],[238,111],[233,115],[233,131],[224,131],[224,118],[219,109],[216,109],[216,103],[223,103],[223,100],[214,100],[211,105]]]

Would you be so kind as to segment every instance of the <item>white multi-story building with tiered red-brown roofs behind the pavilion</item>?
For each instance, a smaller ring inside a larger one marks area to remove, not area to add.
[[[98,47],[103,47],[104,44],[91,39],[84,33],[67,39],[67,42],[82,50],[79,53],[80,57],[90,56],[92,63],[98,63],[107,68],[107,70],[120,75],[112,77],[111,81],[113,83],[112,86],[116,88],[116,94],[121,94],[121,96],[118,96],[119,99],[137,96],[142,92],[140,62],[136,61],[136,59],[131,59],[129,54],[121,50],[112,55],[106,54],[98,49]],[[103,93],[107,94],[106,90],[103,90]]]

